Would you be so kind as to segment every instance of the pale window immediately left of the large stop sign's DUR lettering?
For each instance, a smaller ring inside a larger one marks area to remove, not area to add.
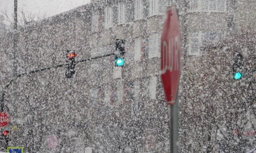
[[[160,35],[153,33],[148,38],[148,58],[160,57]]]

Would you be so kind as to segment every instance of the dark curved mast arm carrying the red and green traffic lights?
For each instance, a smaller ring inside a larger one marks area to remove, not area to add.
[[[114,53],[105,54],[105,55],[96,56],[96,57],[87,58],[87,59],[81,59],[81,60],[76,61],[75,64],[80,63],[80,62],[87,62],[89,60],[99,59],[99,58],[103,58],[103,57],[107,57],[107,56],[111,56],[111,55],[114,55]],[[68,65],[68,63],[59,64],[59,65],[50,66],[50,67],[45,67],[45,68],[40,68],[40,69],[32,70],[32,71],[29,71],[29,72],[21,73],[21,74],[17,75],[17,77],[19,78],[20,76],[25,75],[25,74],[32,74],[32,73],[35,73],[35,72],[41,72],[41,71],[45,71],[45,70],[50,70],[51,68],[63,67],[63,66],[66,66],[66,65]],[[1,112],[4,111],[4,95],[5,95],[5,91],[11,85],[11,83],[12,83],[12,79],[9,81],[9,83],[3,89],[2,96],[1,96]]]

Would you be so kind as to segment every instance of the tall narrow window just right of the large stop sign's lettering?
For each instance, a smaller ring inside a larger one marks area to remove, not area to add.
[[[194,30],[190,33],[189,55],[199,55],[199,31]]]

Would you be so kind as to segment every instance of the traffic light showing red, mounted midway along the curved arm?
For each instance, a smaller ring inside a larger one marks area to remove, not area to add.
[[[65,76],[66,78],[73,78],[73,75],[75,74],[75,65],[76,65],[75,57],[77,55],[75,51],[67,50],[67,52],[68,52],[68,55],[67,55],[66,63],[68,64],[67,64]]]

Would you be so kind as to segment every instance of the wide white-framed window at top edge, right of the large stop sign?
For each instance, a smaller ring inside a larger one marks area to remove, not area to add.
[[[190,0],[191,11],[202,12],[225,12],[227,11],[226,0]]]

